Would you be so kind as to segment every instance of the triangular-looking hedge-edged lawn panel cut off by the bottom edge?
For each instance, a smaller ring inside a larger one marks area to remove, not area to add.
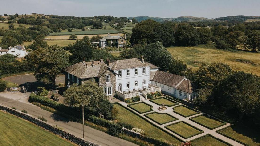
[[[225,144],[216,138],[213,138],[211,136],[206,136],[203,138],[200,138],[198,140],[192,141],[192,145],[196,146],[228,146],[228,144]]]

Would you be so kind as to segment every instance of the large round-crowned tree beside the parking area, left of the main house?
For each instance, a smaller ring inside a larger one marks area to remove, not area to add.
[[[25,57],[28,63],[35,67],[37,81],[51,82],[55,85],[56,76],[61,75],[63,69],[69,66],[69,56],[58,45],[39,48]]]

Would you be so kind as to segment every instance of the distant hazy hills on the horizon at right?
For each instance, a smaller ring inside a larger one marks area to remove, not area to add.
[[[128,19],[132,19],[133,17],[128,17]],[[153,19],[157,22],[163,22],[163,21],[172,21],[172,22],[182,22],[182,21],[189,21],[189,22],[198,22],[198,21],[207,21],[207,20],[215,20],[215,21],[246,21],[247,19],[259,19],[260,16],[227,16],[227,17],[219,17],[219,18],[204,18],[204,17],[193,17],[193,16],[181,16],[177,18],[160,18],[160,17],[149,17],[149,16],[138,16],[134,17],[138,22],[141,22],[143,20],[147,19]]]

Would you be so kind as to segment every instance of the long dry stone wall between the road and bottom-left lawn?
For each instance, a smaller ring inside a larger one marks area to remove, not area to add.
[[[44,122],[42,120],[39,120],[38,118],[32,117],[29,114],[25,114],[25,113],[20,112],[18,110],[11,109],[11,108],[6,107],[4,105],[0,105],[0,110],[9,112],[12,115],[21,117],[21,118],[23,118],[25,120],[28,120],[28,121],[30,121],[30,122],[32,122],[32,123],[34,123],[34,124],[44,128],[44,129],[49,130],[49,131],[53,132],[54,134],[57,134],[57,135],[59,135],[59,136],[61,136],[63,138],[66,138],[67,140],[72,141],[73,143],[76,143],[78,145],[98,146],[97,144],[95,144],[93,142],[84,140],[84,139],[82,139],[80,137],[77,137],[77,136],[75,136],[73,134],[70,134],[67,131],[60,130],[60,129],[56,128],[56,127],[53,127],[49,123]]]

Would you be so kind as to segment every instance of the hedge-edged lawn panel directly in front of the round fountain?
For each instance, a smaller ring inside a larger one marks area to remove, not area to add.
[[[178,118],[175,118],[169,114],[162,114],[162,113],[158,113],[158,112],[154,112],[152,114],[150,114],[150,113],[145,114],[145,116],[160,125],[178,120]]]

